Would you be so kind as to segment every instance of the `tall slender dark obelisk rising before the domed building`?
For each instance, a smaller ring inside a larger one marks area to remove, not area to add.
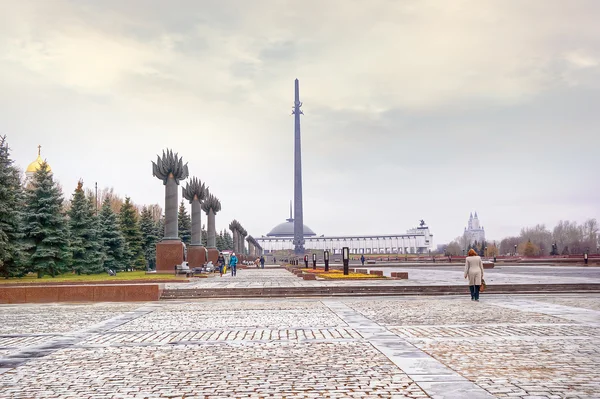
[[[304,216],[302,215],[302,148],[300,140],[300,85],[295,81],[294,97],[294,253],[304,255]]]

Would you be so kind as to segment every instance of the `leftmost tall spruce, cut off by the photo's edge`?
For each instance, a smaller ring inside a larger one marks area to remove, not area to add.
[[[22,277],[21,215],[19,171],[13,166],[6,136],[0,137],[0,276]]]

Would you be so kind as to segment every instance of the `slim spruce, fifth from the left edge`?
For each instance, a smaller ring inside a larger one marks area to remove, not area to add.
[[[125,202],[121,206],[119,225],[125,239],[125,270],[144,270],[146,259],[142,250],[142,234],[138,214],[129,197],[125,197]]]

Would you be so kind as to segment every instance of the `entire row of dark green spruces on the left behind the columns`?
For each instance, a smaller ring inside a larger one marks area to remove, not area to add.
[[[65,201],[45,162],[23,187],[6,137],[0,137],[0,276],[35,273],[41,278],[152,267],[156,243],[164,235],[160,207],[140,210],[129,197],[121,200],[105,190],[97,209],[93,194],[80,181],[70,201]],[[180,218],[179,234],[189,243],[191,221],[184,206]],[[233,248],[231,234],[222,231],[217,246]]]

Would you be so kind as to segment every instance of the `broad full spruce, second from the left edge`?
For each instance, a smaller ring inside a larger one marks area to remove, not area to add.
[[[70,249],[63,196],[48,164],[42,163],[25,195],[23,233],[26,264],[38,278],[52,277],[69,269]]]

